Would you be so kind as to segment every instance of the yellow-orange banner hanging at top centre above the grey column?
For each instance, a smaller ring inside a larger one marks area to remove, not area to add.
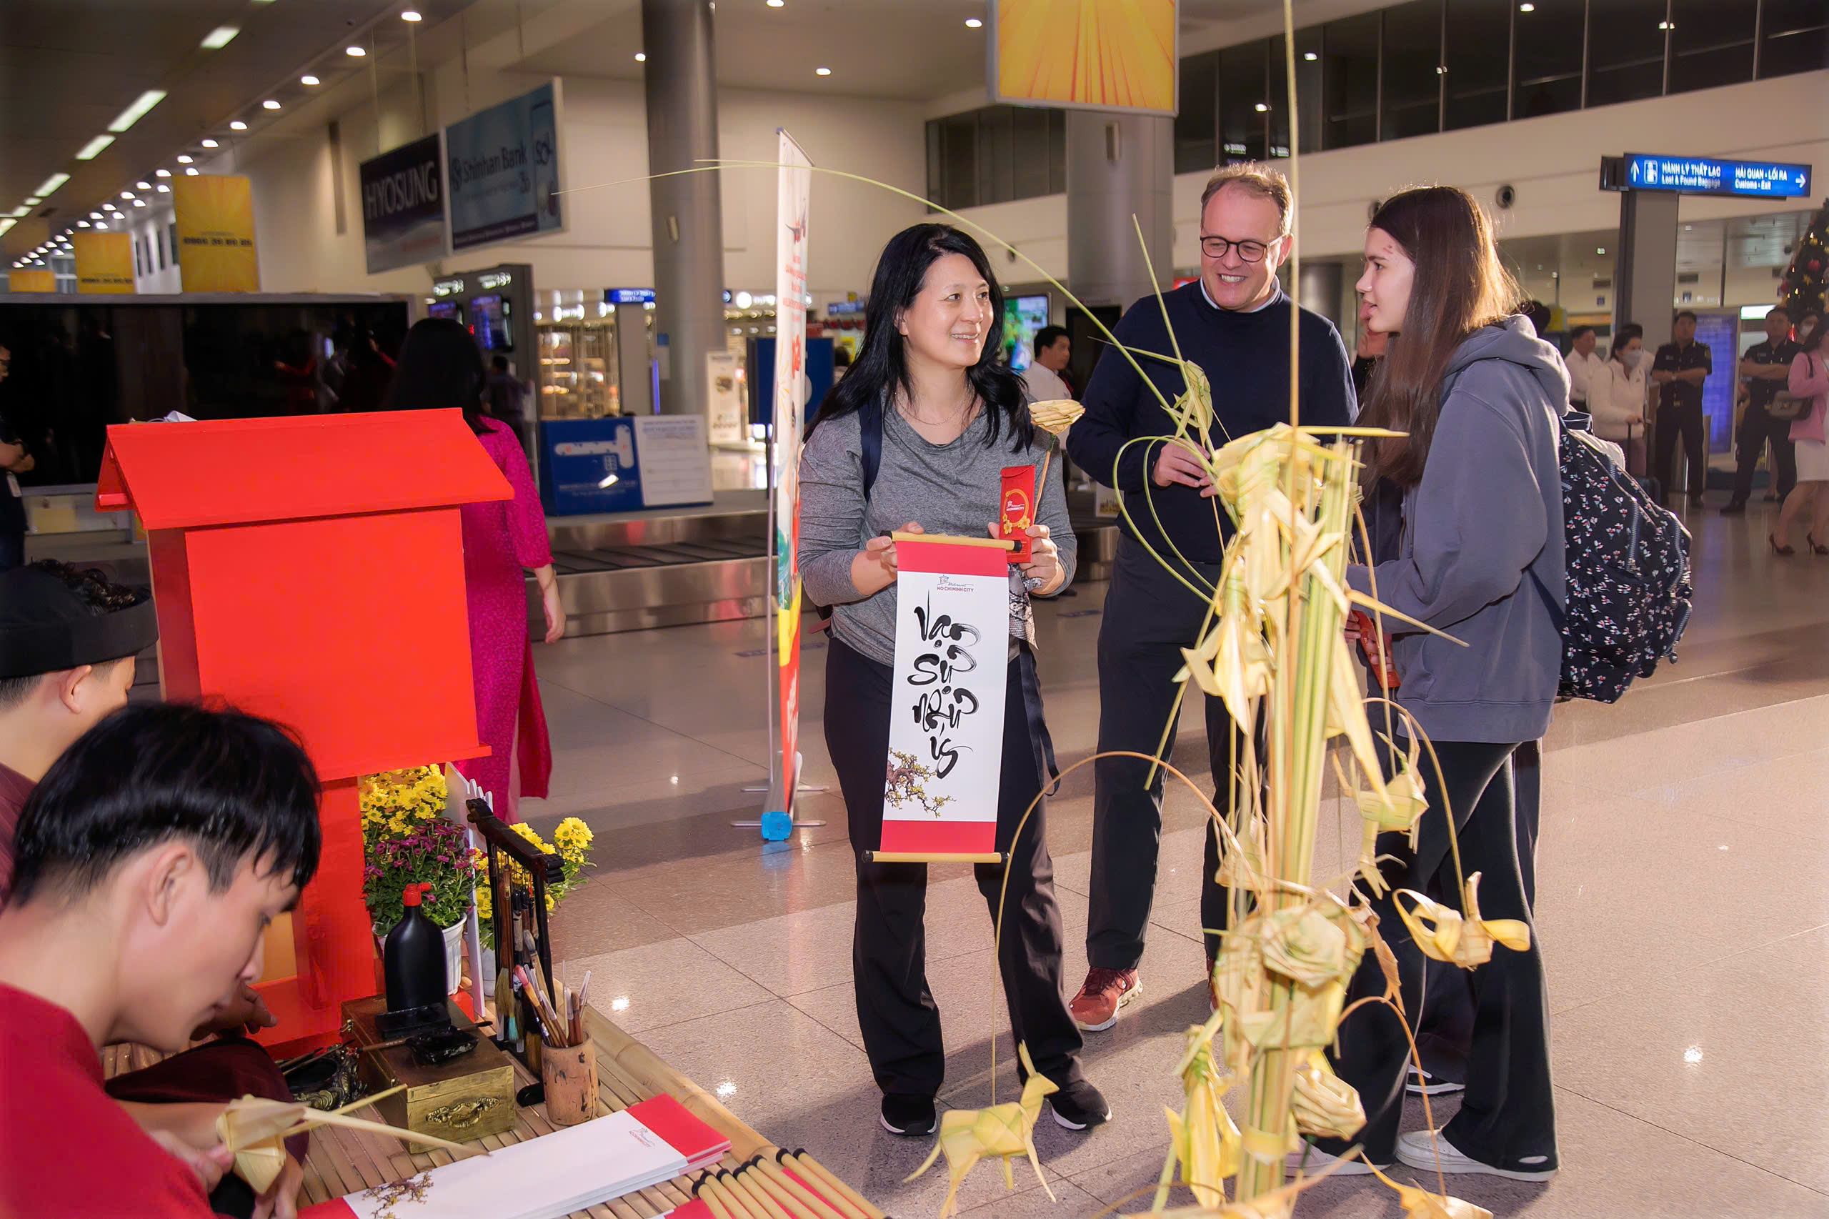
[[[1174,113],[1176,0],[995,0],[991,101]]]

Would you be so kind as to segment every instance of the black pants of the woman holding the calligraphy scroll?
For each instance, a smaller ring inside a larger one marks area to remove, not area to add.
[[[946,1078],[940,1009],[927,988],[927,864],[865,864],[882,846],[883,767],[894,674],[838,639],[825,661],[825,743],[845,793],[850,847],[858,853],[858,922],[850,970],[858,1025],[871,1071],[883,1093],[933,1096]],[[1024,646],[1010,661],[1004,692],[1004,767],[997,791],[997,849],[1010,853],[1010,893],[997,968],[1010,1003],[1010,1029],[1028,1043],[1035,1069],[1055,1084],[1081,1078],[1079,1027],[1061,994],[1061,908],[1054,901],[1046,809],[1015,838],[1017,822],[1043,789],[1054,747],[1041,717],[1035,657]],[[975,868],[995,924],[1004,871]]]

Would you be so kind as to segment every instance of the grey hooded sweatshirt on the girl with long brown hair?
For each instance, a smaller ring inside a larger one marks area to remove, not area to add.
[[[1569,373],[1531,322],[1513,317],[1454,351],[1443,388],[1423,481],[1403,502],[1397,558],[1370,571],[1379,600],[1467,646],[1386,619],[1397,703],[1436,741],[1535,741],[1562,672],[1549,599],[1560,615],[1556,419]],[[1346,578],[1372,591],[1366,567]]]

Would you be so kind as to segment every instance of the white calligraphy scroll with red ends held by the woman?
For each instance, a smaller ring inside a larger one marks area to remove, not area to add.
[[[1010,663],[1008,542],[896,534],[883,853],[997,849]]]

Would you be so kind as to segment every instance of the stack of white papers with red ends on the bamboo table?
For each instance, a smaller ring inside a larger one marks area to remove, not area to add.
[[[715,1164],[730,1140],[671,1096],[430,1171],[439,1219],[560,1219]],[[369,1192],[313,1206],[307,1219],[377,1219]]]

